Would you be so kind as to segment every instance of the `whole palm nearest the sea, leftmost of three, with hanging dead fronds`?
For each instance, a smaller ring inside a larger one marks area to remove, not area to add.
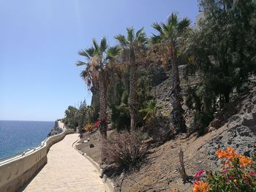
[[[92,86],[99,89],[99,127],[101,135],[101,151],[102,163],[107,158],[107,97],[106,91],[108,87],[108,72],[110,70],[110,62],[114,61],[119,54],[118,46],[109,47],[107,39],[102,38],[100,44],[93,40],[93,46],[89,49],[78,52],[79,55],[86,57],[87,62],[78,61],[77,66],[86,66],[80,76],[85,80],[86,85],[90,89]]]

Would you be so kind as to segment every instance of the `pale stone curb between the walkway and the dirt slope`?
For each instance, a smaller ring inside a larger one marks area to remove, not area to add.
[[[103,174],[103,170],[99,167],[99,164],[97,164],[92,158],[89,157],[89,155],[86,155],[86,153],[81,152],[80,150],[76,149],[74,147],[74,145],[79,141],[80,139],[76,140],[75,142],[73,142],[72,147],[78,151],[78,153],[80,153],[81,155],[83,155],[83,157],[87,158],[91,164],[93,164],[93,166],[97,169],[97,171],[99,172],[99,177],[102,178],[102,182],[104,183],[104,187],[105,187],[105,192],[113,192],[115,189],[115,185],[113,183],[112,180],[110,180],[110,178],[107,177],[106,174]]]

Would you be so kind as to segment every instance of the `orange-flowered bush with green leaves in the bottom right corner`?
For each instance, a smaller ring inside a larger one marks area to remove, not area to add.
[[[227,147],[216,151],[222,159],[222,172],[200,170],[194,176],[193,192],[254,192],[256,191],[256,172],[251,158],[240,155]],[[206,173],[206,179],[201,175]]]

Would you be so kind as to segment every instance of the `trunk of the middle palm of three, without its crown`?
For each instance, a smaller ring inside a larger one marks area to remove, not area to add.
[[[134,50],[129,51],[129,112],[131,115],[131,132],[134,133],[136,130],[136,113],[137,113],[137,64],[135,62]]]

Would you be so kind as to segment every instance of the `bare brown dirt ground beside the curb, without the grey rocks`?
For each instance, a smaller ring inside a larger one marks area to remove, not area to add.
[[[185,169],[188,175],[192,176],[201,169],[215,168],[213,161],[209,161],[207,154],[200,151],[200,148],[215,135],[225,131],[227,126],[222,126],[217,131],[212,131],[203,137],[197,134],[186,138],[180,135],[176,139],[148,150],[146,163],[139,170],[121,174],[112,179],[116,183],[116,191],[171,191],[178,189],[187,191],[192,189],[192,183],[183,183],[178,173],[179,158],[178,153],[184,151]],[[113,131],[111,131],[113,132]],[[110,134],[108,132],[108,134]],[[90,138],[89,142],[83,143]],[[78,142],[78,150],[89,155],[98,164],[100,161],[99,133],[84,134],[83,139]],[[90,148],[89,145],[94,147]]]

